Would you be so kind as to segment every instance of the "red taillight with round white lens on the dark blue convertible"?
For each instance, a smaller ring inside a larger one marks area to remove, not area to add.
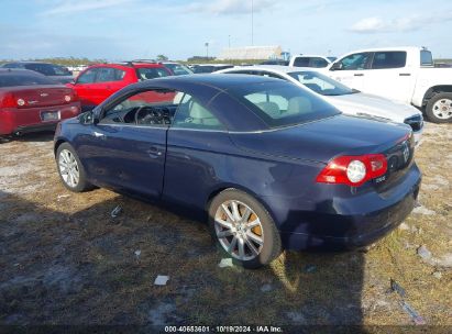
[[[386,171],[387,160],[383,154],[345,155],[332,159],[318,175],[316,181],[359,187],[385,175]]]

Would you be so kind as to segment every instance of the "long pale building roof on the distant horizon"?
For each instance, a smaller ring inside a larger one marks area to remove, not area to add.
[[[244,46],[244,47],[230,47],[221,52],[217,59],[275,59],[282,57],[283,49],[280,46]]]

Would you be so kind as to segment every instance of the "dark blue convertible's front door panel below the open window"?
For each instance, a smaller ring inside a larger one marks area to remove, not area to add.
[[[98,124],[85,148],[96,183],[151,198],[162,193],[167,127]]]

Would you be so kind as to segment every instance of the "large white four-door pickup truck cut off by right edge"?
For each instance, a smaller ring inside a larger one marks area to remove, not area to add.
[[[452,68],[434,67],[423,47],[361,49],[318,70],[363,92],[418,107],[431,122],[452,121]]]

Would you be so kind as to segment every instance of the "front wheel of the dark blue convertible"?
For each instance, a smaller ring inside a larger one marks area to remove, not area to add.
[[[70,191],[82,192],[93,187],[87,181],[85,168],[75,149],[63,143],[56,151],[56,166],[63,185]]]

